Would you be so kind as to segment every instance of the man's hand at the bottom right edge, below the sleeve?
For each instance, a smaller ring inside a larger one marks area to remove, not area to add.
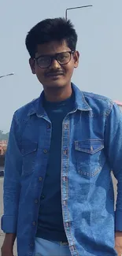
[[[122,232],[115,233],[115,250],[118,256],[122,255]]]

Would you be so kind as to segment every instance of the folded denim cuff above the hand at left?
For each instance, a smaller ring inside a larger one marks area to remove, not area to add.
[[[4,233],[16,233],[17,217],[3,215],[1,220],[1,228]]]

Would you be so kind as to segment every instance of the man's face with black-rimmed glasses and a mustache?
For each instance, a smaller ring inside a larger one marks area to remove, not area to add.
[[[29,62],[31,72],[44,88],[65,87],[71,83],[73,70],[78,67],[79,53],[72,53],[66,42],[44,43],[37,46],[35,59]]]

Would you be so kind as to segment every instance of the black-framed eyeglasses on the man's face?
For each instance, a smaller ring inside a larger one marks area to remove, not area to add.
[[[54,60],[56,60],[60,65],[68,64],[68,62],[71,61],[72,54],[74,54],[74,51],[71,50],[54,55],[41,55],[34,60],[37,62],[41,69],[47,69],[50,67]]]

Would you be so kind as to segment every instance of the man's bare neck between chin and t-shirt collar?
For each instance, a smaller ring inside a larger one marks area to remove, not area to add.
[[[72,87],[44,88],[44,94],[48,102],[61,102],[72,95]]]

